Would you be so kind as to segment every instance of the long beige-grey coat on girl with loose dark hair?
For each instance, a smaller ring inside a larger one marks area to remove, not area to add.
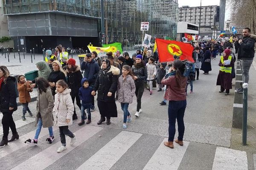
[[[40,113],[43,127],[51,127],[53,126],[52,108],[54,106],[51,88],[47,88],[46,93],[43,91],[42,94],[40,94],[38,89],[37,92],[35,126],[37,126]]]

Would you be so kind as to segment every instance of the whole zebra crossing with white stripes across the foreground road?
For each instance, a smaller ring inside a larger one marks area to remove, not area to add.
[[[122,170],[123,167],[125,170],[178,170],[181,162],[186,164],[184,158],[188,154],[188,148],[191,147],[191,142],[184,141],[182,147],[175,143],[175,148],[170,149],[163,145],[167,140],[163,136],[94,125],[79,127],[73,124],[70,130],[76,133],[76,143],[69,146],[70,139],[67,137],[67,150],[62,153],[56,152],[61,145],[60,138],[57,136],[58,127],[54,127],[56,137],[52,144],[41,140],[48,135],[47,128],[42,129],[41,138],[38,140],[41,142],[37,146],[23,143],[24,139],[31,138],[35,134],[35,130],[20,136],[20,139],[0,148],[1,168],[6,170]],[[147,140],[148,142],[145,142]],[[243,151],[215,146],[215,156],[212,159],[214,161],[209,170],[248,170],[247,155]],[[131,162],[136,160],[136,163]],[[198,164],[197,170],[200,170],[200,166]],[[189,167],[187,169],[190,170]]]

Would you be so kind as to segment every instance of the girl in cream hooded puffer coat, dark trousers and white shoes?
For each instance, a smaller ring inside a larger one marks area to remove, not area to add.
[[[64,80],[56,82],[56,94],[53,108],[54,124],[60,129],[61,136],[61,147],[58,148],[57,152],[61,153],[66,147],[65,135],[71,138],[70,146],[76,141],[76,134],[72,133],[68,129],[68,125],[72,125],[72,116],[74,113],[74,105],[70,96],[70,89]]]

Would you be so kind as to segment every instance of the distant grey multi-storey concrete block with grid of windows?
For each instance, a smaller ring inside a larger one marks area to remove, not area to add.
[[[179,8],[178,22],[189,22],[199,25],[200,36],[212,37],[212,32],[224,29],[225,3],[220,6],[182,6]],[[221,14],[220,14],[221,8]]]

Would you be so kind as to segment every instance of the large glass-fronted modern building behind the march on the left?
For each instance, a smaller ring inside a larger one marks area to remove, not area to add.
[[[43,48],[87,48],[101,42],[100,0],[3,0],[15,45],[41,53]],[[124,50],[141,44],[141,22],[155,37],[176,37],[177,0],[104,0],[106,43]],[[23,42],[23,45],[21,44]]]

